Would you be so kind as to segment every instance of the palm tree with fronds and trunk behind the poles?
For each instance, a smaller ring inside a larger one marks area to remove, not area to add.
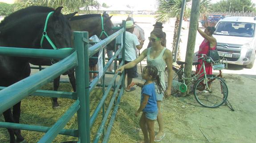
[[[184,9],[184,16],[188,17],[190,15],[190,8],[187,7],[187,3],[191,0],[186,0],[186,5]],[[172,52],[175,51],[175,45],[177,41],[178,28],[179,28],[179,17],[181,13],[183,0],[157,0],[158,10],[156,12],[156,20],[159,22],[169,21],[171,17],[175,17],[175,28],[172,43]],[[201,0],[200,2],[200,13],[205,13],[211,11],[211,0]],[[178,47],[177,59],[180,60],[180,47]]]

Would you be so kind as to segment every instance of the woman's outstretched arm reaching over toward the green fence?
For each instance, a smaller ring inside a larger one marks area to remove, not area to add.
[[[118,73],[118,71],[120,71],[122,73],[124,69],[130,69],[130,68],[136,66],[139,62],[141,62],[146,57],[146,53],[147,53],[147,49],[143,50],[142,54],[140,54],[140,56],[138,56],[138,58],[136,58],[134,61],[129,62],[129,63],[121,66],[120,68],[118,68],[116,70],[116,73]]]

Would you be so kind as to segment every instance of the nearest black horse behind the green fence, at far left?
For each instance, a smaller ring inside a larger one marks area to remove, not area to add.
[[[61,14],[62,8],[54,10],[47,7],[29,7],[7,16],[0,23],[0,46],[52,49],[46,40],[42,46],[40,43],[45,19],[53,11],[47,23],[47,35],[57,48],[71,47],[69,17]],[[0,86],[9,86],[28,77],[29,60],[30,58],[0,55]],[[6,122],[20,122],[20,103],[13,106],[12,112],[8,109],[3,113]],[[10,143],[15,143],[15,135],[16,142],[24,141],[20,130],[8,129],[8,132]]]

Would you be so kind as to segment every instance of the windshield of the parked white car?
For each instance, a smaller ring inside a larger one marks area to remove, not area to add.
[[[253,37],[255,23],[245,22],[219,22],[215,35],[230,35],[239,37]]]

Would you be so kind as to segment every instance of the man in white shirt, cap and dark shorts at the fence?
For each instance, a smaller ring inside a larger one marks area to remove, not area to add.
[[[134,23],[133,21],[126,21],[126,43],[125,43],[125,64],[128,62],[134,61],[136,59],[136,49],[140,50],[143,46],[143,41],[138,41],[136,35],[132,34],[134,31]],[[121,39],[120,39],[121,40]],[[122,52],[121,52],[122,53]],[[121,54],[122,56],[122,54]],[[131,69],[125,70],[125,74],[127,74],[127,87],[132,83],[132,79],[138,77],[137,74],[137,66],[134,66]],[[134,87],[127,89],[126,92],[130,92],[135,90]]]

